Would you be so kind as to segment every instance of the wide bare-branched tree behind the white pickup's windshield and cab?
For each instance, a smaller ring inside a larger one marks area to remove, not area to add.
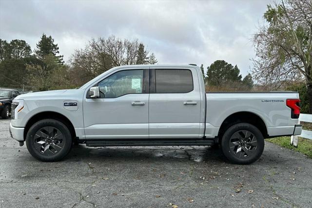
[[[81,85],[115,66],[135,64],[138,45],[138,40],[121,40],[115,36],[92,39],[71,57],[74,83]]]

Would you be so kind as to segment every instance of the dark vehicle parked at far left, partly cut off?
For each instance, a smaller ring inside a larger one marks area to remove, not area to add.
[[[2,119],[9,118],[12,100],[18,95],[20,95],[18,90],[0,88],[0,117]]]

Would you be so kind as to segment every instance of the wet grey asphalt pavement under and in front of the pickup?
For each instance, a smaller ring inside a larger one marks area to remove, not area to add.
[[[0,120],[0,208],[312,207],[312,160],[266,143],[239,166],[211,147],[74,146],[42,163]]]

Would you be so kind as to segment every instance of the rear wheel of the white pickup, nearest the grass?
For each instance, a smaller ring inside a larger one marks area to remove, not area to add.
[[[247,165],[260,158],[264,149],[264,138],[254,125],[239,123],[229,127],[221,141],[222,152],[232,163]]]

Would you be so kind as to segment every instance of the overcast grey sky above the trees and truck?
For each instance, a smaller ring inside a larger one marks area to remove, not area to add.
[[[269,0],[75,1],[0,0],[0,38],[22,39],[32,49],[51,35],[67,61],[92,37],[139,39],[159,64],[215,60],[252,66],[252,34]]]

